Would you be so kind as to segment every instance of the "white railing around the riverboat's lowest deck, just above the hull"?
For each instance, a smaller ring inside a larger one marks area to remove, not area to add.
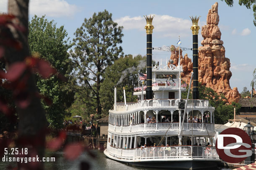
[[[148,160],[155,158],[204,158],[219,159],[215,147],[210,146],[162,146],[162,147],[141,147],[135,149],[115,148],[110,145],[107,152],[119,159]]]

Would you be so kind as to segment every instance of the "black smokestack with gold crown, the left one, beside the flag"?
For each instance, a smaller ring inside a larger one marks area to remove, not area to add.
[[[144,16],[145,17],[145,16]],[[154,26],[152,20],[154,15],[145,17],[146,19],[146,99],[153,99],[152,91],[152,33]]]

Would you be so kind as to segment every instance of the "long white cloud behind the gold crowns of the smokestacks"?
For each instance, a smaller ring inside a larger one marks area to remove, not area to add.
[[[154,14],[155,15],[155,14]],[[143,16],[130,17],[125,16],[115,20],[118,25],[122,25],[124,30],[144,30],[146,20]],[[175,18],[170,15],[156,15],[153,19],[154,30],[157,36],[161,37],[187,37],[191,36],[190,27],[192,26],[191,20],[183,18]],[[201,25],[199,21],[199,25]],[[201,27],[201,26],[200,26]]]

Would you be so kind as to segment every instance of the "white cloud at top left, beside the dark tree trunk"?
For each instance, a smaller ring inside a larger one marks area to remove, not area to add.
[[[0,12],[7,12],[8,0],[0,0]],[[50,17],[72,17],[78,11],[76,5],[66,0],[30,0],[30,15],[47,15]]]

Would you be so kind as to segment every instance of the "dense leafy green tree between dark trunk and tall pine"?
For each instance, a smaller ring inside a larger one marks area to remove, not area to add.
[[[31,53],[49,61],[61,74],[68,76],[71,71],[69,63],[68,33],[63,26],[56,27],[54,20],[48,21],[44,16],[35,15],[29,22],[29,48]],[[49,106],[42,101],[47,120],[52,127],[62,127],[65,110],[73,102],[73,92],[68,90],[65,82],[56,76],[42,79],[36,76],[37,87],[40,94],[49,97],[52,104]]]

